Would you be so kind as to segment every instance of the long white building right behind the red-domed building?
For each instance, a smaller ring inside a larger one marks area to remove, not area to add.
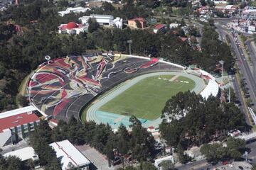
[[[111,15],[96,15],[96,14],[91,14],[90,16],[82,16],[79,18],[79,20],[87,25],[89,18],[95,18],[97,23],[103,26],[116,26],[117,28],[122,28],[123,26],[123,19],[122,18],[115,18],[114,16]]]

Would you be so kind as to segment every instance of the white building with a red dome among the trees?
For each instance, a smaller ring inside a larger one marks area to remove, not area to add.
[[[68,33],[68,34],[79,34],[87,31],[88,26],[83,24],[70,22],[68,24],[60,24],[58,27],[58,33]]]

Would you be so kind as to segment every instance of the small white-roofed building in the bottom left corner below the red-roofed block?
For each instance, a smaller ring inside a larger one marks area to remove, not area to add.
[[[35,169],[40,167],[39,164],[39,157],[37,154],[35,154],[35,150],[33,147],[24,147],[22,149],[18,149],[12,152],[8,152],[4,154],[4,157],[9,157],[9,156],[15,156],[21,159],[22,162],[27,162],[29,159],[32,159],[35,165]]]

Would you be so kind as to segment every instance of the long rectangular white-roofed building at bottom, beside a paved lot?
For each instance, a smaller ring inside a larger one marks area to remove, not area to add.
[[[53,142],[50,144],[53,147],[57,157],[61,157],[62,169],[68,169],[68,164],[73,164],[75,167],[79,167],[80,170],[90,169],[90,161],[68,140],[60,142]]]

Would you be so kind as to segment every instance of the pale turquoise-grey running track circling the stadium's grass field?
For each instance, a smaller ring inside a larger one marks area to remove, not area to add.
[[[136,77],[134,79],[131,79],[127,81],[127,83],[121,84],[117,87],[117,89],[114,89],[111,93],[107,94],[106,96],[103,96],[100,98],[100,101],[97,101],[95,104],[93,104],[87,111],[86,120],[94,120],[96,123],[108,123],[112,126],[113,129],[117,129],[121,123],[123,123],[127,129],[129,129],[129,116],[122,116],[119,114],[114,113],[107,113],[99,111],[99,108],[104,106],[105,103],[112,100],[119,94],[122,94],[125,90],[129,89],[134,84],[137,84],[142,79],[146,79],[148,77],[154,77],[159,75],[175,75],[175,76],[182,76],[187,77],[189,79],[192,79],[195,81],[196,85],[195,88],[191,91],[195,91],[196,94],[199,94],[206,86],[203,79],[200,77],[196,77],[192,74],[187,74],[183,72],[155,72],[151,74],[144,74],[142,76]],[[122,101],[120,101],[122,102]],[[119,120],[122,116],[122,120]],[[118,122],[116,120],[119,120]],[[145,119],[139,119],[142,122],[142,125],[147,128],[151,125],[154,126],[154,128],[158,128],[159,124],[161,123],[161,118],[157,118],[156,120],[145,120]]]

